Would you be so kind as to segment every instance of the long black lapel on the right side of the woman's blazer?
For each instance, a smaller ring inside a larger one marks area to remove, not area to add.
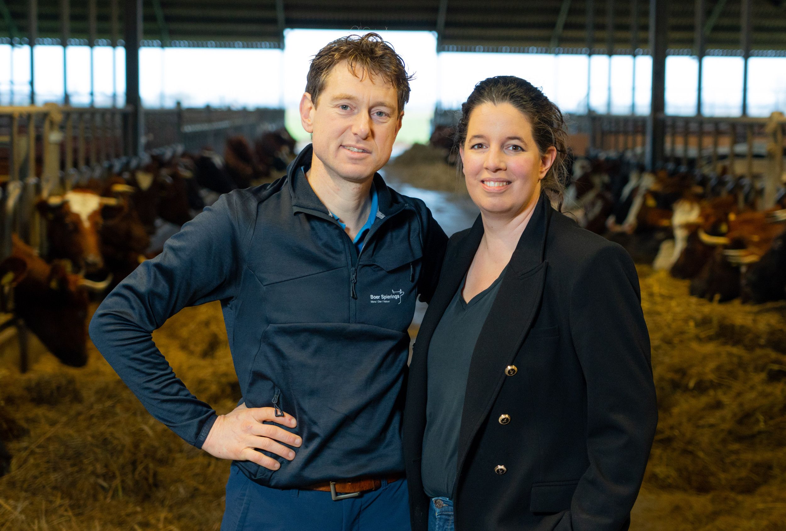
[[[458,478],[468,449],[507,377],[505,368],[516,357],[540,306],[548,267],[544,260],[545,239],[552,211],[547,196],[542,194],[513,252],[472,353],[459,429]]]

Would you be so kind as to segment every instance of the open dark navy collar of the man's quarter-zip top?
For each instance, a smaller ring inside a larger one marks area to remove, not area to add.
[[[306,172],[311,167],[313,152],[312,146],[310,144],[307,145],[287,167],[289,193],[292,195],[292,214],[307,212],[308,214],[318,215],[321,218],[332,219],[328,208],[319,200],[317,194],[314,193],[314,189],[311,188],[311,185],[305,178]],[[303,174],[300,174],[298,171],[300,168],[303,168]],[[394,198],[391,190],[387,188],[384,179],[379,173],[374,174],[374,186],[376,187],[378,207],[377,219],[374,225],[387,218],[387,216],[397,214],[407,207],[402,200]]]

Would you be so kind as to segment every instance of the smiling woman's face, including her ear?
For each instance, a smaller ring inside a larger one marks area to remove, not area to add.
[[[480,211],[515,218],[537,203],[556,148],[538,152],[530,121],[512,104],[485,103],[469,115],[460,153],[469,196]]]

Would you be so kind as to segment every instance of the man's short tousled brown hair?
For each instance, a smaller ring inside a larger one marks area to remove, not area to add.
[[[404,61],[395,53],[390,42],[376,33],[365,35],[347,35],[336,38],[324,48],[319,50],[306,78],[306,92],[311,94],[311,101],[317,104],[319,93],[325,89],[325,79],[331,69],[346,60],[353,75],[358,75],[357,68],[362,72],[380,75],[390,83],[399,96],[399,113],[404,110],[404,104],[410,101],[410,79],[412,75],[406,73]]]

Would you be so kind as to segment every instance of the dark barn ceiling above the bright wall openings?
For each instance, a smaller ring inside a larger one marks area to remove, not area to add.
[[[123,38],[123,1],[68,0],[70,38],[90,38],[91,2],[96,4],[95,38],[112,39],[112,2],[118,5],[117,38]],[[28,36],[29,3],[0,0],[0,37]],[[38,0],[39,38],[61,38],[63,3]],[[707,49],[740,49],[740,3],[705,0]],[[442,49],[580,49],[587,46],[587,4],[587,0],[143,0],[144,38],[174,46],[202,41],[278,46],[283,27],[359,27],[439,31]],[[593,48],[604,52],[611,37],[614,49],[630,49],[634,36],[638,47],[647,47],[648,0],[590,0],[589,4],[595,13]],[[631,24],[634,5],[637,24]],[[670,49],[692,48],[694,6],[691,0],[671,0]],[[786,50],[786,1],[754,0],[751,20],[752,49]]]

